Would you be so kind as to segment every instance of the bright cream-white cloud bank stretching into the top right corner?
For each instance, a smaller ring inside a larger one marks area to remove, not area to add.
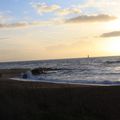
[[[57,15],[69,15],[69,14],[96,14],[105,13],[115,16],[119,16],[120,13],[120,1],[109,1],[109,0],[86,0],[83,3],[77,5],[72,4],[69,7],[60,6],[58,4],[49,5],[47,3],[30,3],[38,13],[44,14],[49,12],[55,12]],[[93,10],[94,9],[94,10]]]

